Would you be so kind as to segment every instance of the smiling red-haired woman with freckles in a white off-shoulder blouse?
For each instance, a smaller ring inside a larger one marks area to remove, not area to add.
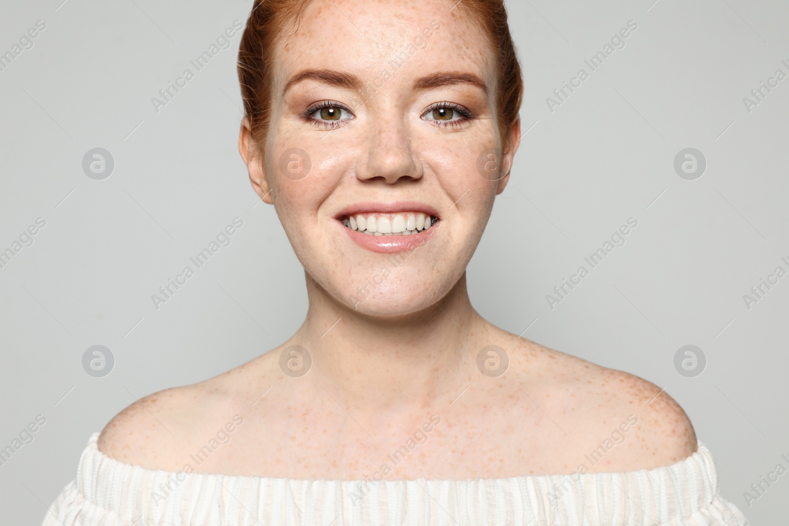
[[[305,322],[118,414],[44,524],[747,524],[664,391],[469,302],[520,138],[500,0],[259,1],[239,75]]]

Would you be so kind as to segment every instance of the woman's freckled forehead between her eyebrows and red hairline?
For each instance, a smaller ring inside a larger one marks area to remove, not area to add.
[[[491,88],[493,53],[482,29],[451,0],[312,0],[275,50],[280,83],[302,69],[347,71],[364,80],[383,71],[402,80],[466,71]],[[367,77],[365,79],[365,77]]]

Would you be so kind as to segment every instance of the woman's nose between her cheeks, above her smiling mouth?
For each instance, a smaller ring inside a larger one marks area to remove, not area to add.
[[[361,181],[380,179],[393,185],[422,176],[422,163],[413,149],[409,125],[402,119],[376,118],[368,130],[366,152],[357,162]]]

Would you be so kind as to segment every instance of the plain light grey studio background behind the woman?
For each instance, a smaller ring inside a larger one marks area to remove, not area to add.
[[[753,524],[777,524],[789,475],[750,508],[742,493],[787,467],[789,277],[750,310],[742,295],[789,270],[789,79],[750,113],[742,99],[789,73],[789,5],[653,2],[508,2],[525,134],[470,294],[506,330],[665,386],[715,455],[724,496]],[[237,154],[239,37],[159,113],[151,104],[249,9],[3,2],[0,53],[47,24],[0,72],[0,250],[47,221],[0,269],[0,447],[47,418],[0,466],[6,524],[39,524],[88,436],[135,397],[226,371],[301,324],[303,270]],[[629,20],[626,47],[549,111],[546,97]],[[94,147],[114,156],[103,181],[82,171]],[[707,160],[695,181],[673,168],[686,147]],[[234,217],[232,244],[156,311],[151,294]],[[549,308],[546,294],[630,217],[626,244]],[[695,378],[674,367],[690,344],[707,358]],[[92,345],[111,349],[110,375],[83,370]]]

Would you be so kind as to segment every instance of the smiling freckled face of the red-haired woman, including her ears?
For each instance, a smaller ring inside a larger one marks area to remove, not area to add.
[[[369,315],[447,294],[507,181],[514,147],[495,155],[494,54],[453,6],[313,0],[275,53],[252,184],[308,274]]]

